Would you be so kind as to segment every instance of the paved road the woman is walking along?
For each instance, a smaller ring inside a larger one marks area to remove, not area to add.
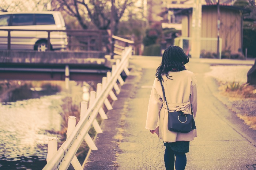
[[[84,169],[165,169],[162,141],[144,128],[148,98],[160,62],[161,57],[131,60],[132,75],[122,87],[118,101],[114,102],[114,109],[108,112],[109,119],[103,121],[103,134],[98,134],[96,139],[99,150],[91,152]],[[217,92],[216,82],[204,74],[210,71],[208,63],[213,62],[220,61],[191,59],[186,65],[196,75],[199,99],[198,137],[191,142],[186,169],[256,169],[256,131],[248,130],[212,95]]]

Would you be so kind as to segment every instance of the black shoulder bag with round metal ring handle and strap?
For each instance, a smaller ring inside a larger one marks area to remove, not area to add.
[[[169,112],[169,108],[167,105],[166,97],[165,97],[165,90],[163,88],[162,81],[161,86],[163,90],[163,97],[165,99],[165,103],[168,109],[168,129],[169,131],[173,132],[180,132],[180,133],[188,133],[192,131],[192,129],[196,129],[196,124],[195,120],[193,117],[193,111],[191,108],[192,115],[186,114],[184,115],[183,112],[181,111],[174,111],[174,112]]]

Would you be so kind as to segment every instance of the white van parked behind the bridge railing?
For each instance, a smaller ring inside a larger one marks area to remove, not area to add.
[[[66,30],[63,16],[58,11],[1,12],[0,29]],[[7,50],[8,32],[0,30],[0,49]],[[46,31],[11,31],[11,50],[46,51]],[[67,47],[66,32],[50,32],[50,50]]]

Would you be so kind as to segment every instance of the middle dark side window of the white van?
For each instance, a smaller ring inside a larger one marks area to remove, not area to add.
[[[33,14],[14,14],[12,16],[12,26],[31,26],[33,21]]]

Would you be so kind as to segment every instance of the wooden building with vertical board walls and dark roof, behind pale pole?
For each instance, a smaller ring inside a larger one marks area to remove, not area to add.
[[[220,38],[221,50],[237,53],[242,49],[243,16],[248,9],[233,5],[220,5]],[[192,35],[192,8],[182,9],[182,37]],[[217,51],[217,4],[202,5],[201,51],[216,53]],[[190,42],[189,42],[190,43]],[[189,45],[190,46],[190,45]]]

